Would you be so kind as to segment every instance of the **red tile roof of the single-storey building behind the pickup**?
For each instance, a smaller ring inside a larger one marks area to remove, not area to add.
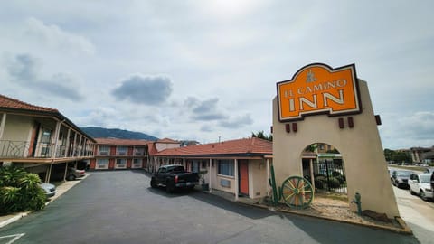
[[[156,156],[272,155],[273,143],[256,137],[165,149]]]

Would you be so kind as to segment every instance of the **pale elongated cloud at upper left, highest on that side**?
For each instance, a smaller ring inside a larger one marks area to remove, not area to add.
[[[45,24],[36,18],[28,18],[24,29],[24,37],[42,45],[60,49],[63,52],[81,52],[94,54],[95,46],[85,37],[68,33],[54,24]]]

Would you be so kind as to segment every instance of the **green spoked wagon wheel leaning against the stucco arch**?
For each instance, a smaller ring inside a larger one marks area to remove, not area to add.
[[[304,209],[314,199],[312,185],[303,177],[290,176],[282,183],[282,198],[289,207]]]

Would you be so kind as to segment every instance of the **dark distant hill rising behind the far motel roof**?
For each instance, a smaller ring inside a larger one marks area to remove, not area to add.
[[[156,141],[158,138],[149,136],[145,133],[129,131],[118,128],[103,128],[103,127],[80,127],[89,136],[93,138],[119,138],[119,139],[134,139]]]

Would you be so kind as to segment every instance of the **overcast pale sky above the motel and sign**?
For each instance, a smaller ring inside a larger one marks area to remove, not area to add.
[[[0,94],[79,127],[270,133],[276,83],[355,64],[384,148],[434,145],[434,1],[1,1]],[[308,119],[308,118],[307,118]]]

